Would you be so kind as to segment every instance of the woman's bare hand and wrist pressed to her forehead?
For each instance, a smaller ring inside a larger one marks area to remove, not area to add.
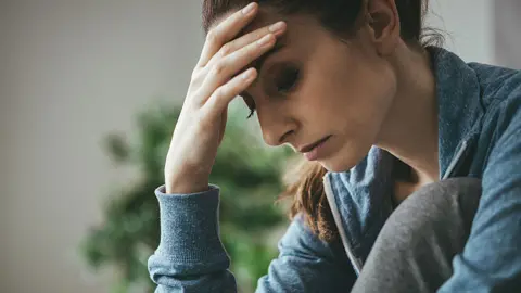
[[[269,51],[277,36],[285,30],[284,23],[277,23],[233,39],[257,10],[258,5],[251,3],[207,34],[166,156],[167,193],[193,193],[208,188],[228,104],[257,77],[256,69],[246,66]]]

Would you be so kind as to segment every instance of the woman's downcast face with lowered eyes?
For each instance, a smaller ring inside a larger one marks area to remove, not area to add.
[[[245,33],[280,20],[288,24],[280,48],[257,64],[258,78],[243,98],[256,109],[266,143],[302,151],[327,139],[313,160],[331,171],[350,169],[377,142],[396,78],[367,27],[342,41],[310,16],[260,10]]]

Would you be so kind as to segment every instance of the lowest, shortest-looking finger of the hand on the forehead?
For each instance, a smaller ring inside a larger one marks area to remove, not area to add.
[[[217,118],[217,115],[221,115],[228,107],[231,100],[246,90],[256,77],[257,71],[251,67],[219,87],[202,106],[203,115],[207,115],[208,118]]]

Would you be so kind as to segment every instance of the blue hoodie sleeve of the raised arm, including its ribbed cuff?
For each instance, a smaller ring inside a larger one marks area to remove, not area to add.
[[[191,194],[165,194],[160,202],[161,242],[149,258],[155,292],[237,292],[230,259],[219,239],[219,189]],[[340,242],[315,237],[297,215],[278,243],[279,256],[256,293],[344,292],[355,275]]]

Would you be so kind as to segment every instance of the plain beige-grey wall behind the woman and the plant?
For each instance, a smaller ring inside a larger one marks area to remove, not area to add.
[[[434,2],[449,48],[491,62],[490,1]],[[185,97],[202,44],[199,5],[0,1],[0,292],[106,292],[75,256],[104,191],[125,178],[100,138],[129,132],[156,97]]]

